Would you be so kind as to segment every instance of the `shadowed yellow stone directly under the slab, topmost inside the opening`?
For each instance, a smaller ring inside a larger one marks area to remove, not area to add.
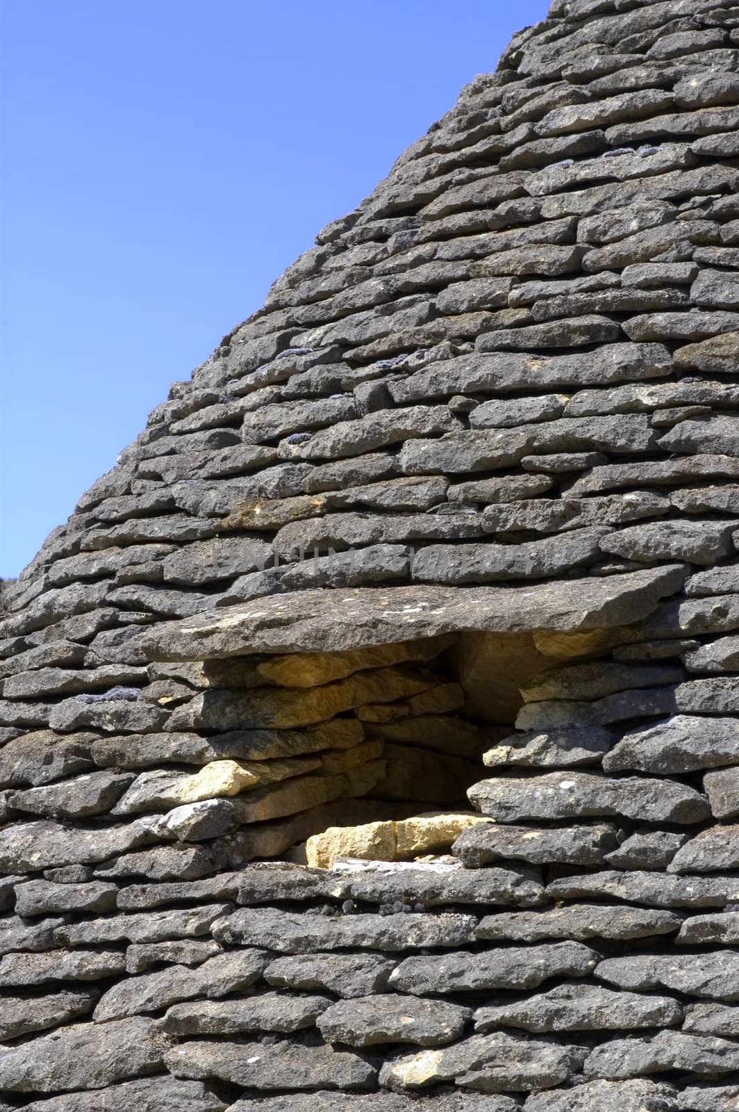
[[[397,645],[377,645],[347,653],[291,653],[262,661],[257,674],[263,681],[283,687],[316,687],[332,679],[344,679],[366,668],[383,668],[405,661],[432,661],[453,641],[448,635],[423,641],[403,641]]]

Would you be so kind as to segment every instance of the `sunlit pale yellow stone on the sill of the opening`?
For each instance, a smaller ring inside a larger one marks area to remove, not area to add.
[[[489,823],[482,815],[438,812],[397,822],[329,826],[308,838],[306,857],[313,868],[331,868],[336,857],[361,861],[407,861],[430,850],[449,850],[462,831]]]

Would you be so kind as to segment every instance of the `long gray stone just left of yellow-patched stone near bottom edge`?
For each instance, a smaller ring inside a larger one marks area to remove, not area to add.
[[[176,1078],[218,1078],[249,1089],[372,1089],[377,1071],[357,1054],[280,1042],[192,1042],[164,1055]]]

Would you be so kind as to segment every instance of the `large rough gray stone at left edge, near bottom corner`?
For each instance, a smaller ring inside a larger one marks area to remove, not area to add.
[[[150,1020],[80,1023],[0,1051],[0,1086],[13,1093],[102,1089],[162,1068],[168,1040]]]

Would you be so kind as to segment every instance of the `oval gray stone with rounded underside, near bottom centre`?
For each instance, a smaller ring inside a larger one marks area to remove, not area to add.
[[[443,1046],[459,1039],[471,1015],[469,1007],[459,1004],[385,993],[331,1004],[318,1017],[317,1026],[327,1042],[349,1046]]]

